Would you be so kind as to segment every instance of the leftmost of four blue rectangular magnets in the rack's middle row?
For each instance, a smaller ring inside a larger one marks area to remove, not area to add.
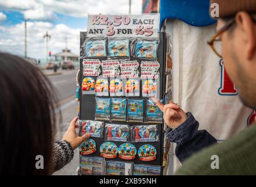
[[[95,120],[110,120],[110,98],[96,98]]]

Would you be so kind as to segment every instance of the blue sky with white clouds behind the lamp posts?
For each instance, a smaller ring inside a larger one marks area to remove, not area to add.
[[[141,13],[142,0],[132,0],[132,13]],[[86,31],[87,15],[128,13],[129,0],[0,0],[0,50],[24,56],[24,19],[27,21],[27,56],[46,58],[43,36],[51,35],[54,54],[67,46],[79,54],[79,32]]]

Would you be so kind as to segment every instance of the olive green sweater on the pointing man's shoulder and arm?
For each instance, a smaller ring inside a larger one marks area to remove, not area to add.
[[[219,156],[219,169],[211,168],[212,155]],[[184,162],[176,175],[256,175],[256,125],[199,151]]]

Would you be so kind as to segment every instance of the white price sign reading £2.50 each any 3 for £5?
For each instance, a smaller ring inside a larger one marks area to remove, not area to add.
[[[159,14],[89,15],[88,37],[158,37]]]

